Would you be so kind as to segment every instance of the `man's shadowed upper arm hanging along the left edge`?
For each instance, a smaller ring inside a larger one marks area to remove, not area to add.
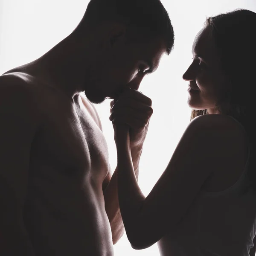
[[[30,146],[35,135],[31,97],[14,76],[0,77],[0,255],[34,256],[23,222]]]

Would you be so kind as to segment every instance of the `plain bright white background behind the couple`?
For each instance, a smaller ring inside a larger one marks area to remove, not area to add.
[[[256,12],[256,0],[162,0],[175,30],[175,48],[164,56],[158,70],[146,76],[140,91],[153,100],[154,114],[140,162],[139,184],[148,195],[163,173],[186,125],[190,109],[187,82],[182,75],[191,63],[192,42],[206,17],[236,8]],[[40,57],[64,39],[81,20],[88,0],[0,0],[0,74]],[[238,35],[239,36],[239,35]],[[96,108],[102,119],[116,166],[109,100]],[[158,256],[157,245],[136,251],[126,236],[114,246],[116,256]]]

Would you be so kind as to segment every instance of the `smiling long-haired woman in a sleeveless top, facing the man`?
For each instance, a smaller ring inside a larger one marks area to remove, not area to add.
[[[161,256],[255,255],[255,28],[256,13],[240,9],[208,18],[196,36],[183,75],[192,121],[146,198],[113,106],[119,205],[135,249],[158,241]]]

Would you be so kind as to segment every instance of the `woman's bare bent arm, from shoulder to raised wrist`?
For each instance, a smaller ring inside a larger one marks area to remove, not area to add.
[[[116,128],[119,206],[132,247],[149,247],[167,231],[171,232],[209,175],[217,169],[225,171],[234,159],[241,159],[242,142],[238,134],[242,134],[241,140],[244,134],[239,125],[230,120],[224,122],[211,116],[194,119],[146,198],[134,175],[128,127]]]

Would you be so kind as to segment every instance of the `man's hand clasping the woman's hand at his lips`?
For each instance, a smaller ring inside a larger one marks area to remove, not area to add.
[[[109,119],[112,121],[115,131],[118,124],[126,124],[130,127],[131,150],[141,149],[143,146],[149,120],[153,113],[151,105],[151,99],[130,87],[125,88],[119,98],[111,102]]]

